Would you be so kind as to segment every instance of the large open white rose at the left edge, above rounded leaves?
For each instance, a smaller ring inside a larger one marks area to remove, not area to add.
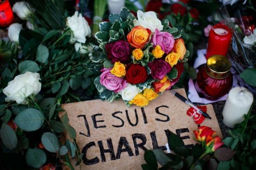
[[[26,104],[28,96],[37,94],[41,90],[39,80],[41,80],[40,75],[36,72],[27,71],[25,74],[16,76],[3,90],[7,95],[5,101],[16,101],[18,104]]]

